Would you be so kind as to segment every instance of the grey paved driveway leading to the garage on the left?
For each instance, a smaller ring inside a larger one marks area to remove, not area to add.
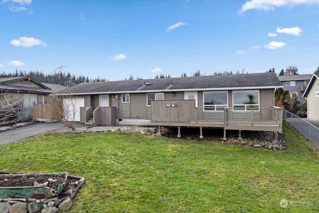
[[[79,124],[75,125],[79,127]],[[50,132],[59,129],[65,129],[63,124],[59,122],[54,123],[35,123],[23,127],[19,127],[13,130],[8,130],[5,132],[0,132],[0,145],[10,143],[13,141],[22,140],[25,138],[29,138],[41,133]]]

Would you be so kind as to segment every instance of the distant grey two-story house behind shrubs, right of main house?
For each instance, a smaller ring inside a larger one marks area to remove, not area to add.
[[[305,98],[303,98],[306,87],[312,77],[312,74],[305,75],[279,75],[278,78],[284,86],[284,90],[288,90],[290,95],[297,94],[298,101],[303,104]]]

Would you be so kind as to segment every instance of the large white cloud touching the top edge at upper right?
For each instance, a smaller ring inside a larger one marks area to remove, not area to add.
[[[295,6],[299,4],[315,4],[318,0],[250,0],[241,6],[239,12],[245,12],[250,9],[275,10],[280,6]]]

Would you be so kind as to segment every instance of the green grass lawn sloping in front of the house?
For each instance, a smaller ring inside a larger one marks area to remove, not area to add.
[[[133,133],[42,134],[0,146],[0,170],[85,177],[69,213],[319,212],[319,152]],[[287,208],[279,203],[287,199]],[[306,203],[301,203],[306,202]]]

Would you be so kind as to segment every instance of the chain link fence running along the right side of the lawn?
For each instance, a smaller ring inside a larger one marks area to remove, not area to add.
[[[319,149],[319,128],[287,110],[284,111],[284,120]]]

